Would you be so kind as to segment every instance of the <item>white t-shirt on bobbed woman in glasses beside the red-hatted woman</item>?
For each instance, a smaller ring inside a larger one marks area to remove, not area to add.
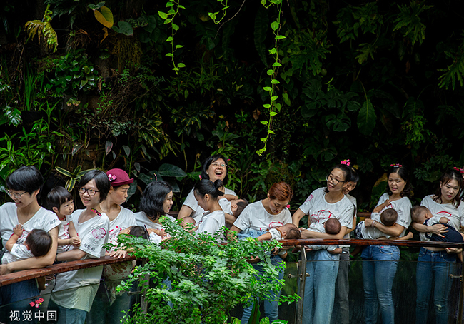
[[[79,209],[71,215],[71,221],[81,238],[79,250],[86,253],[81,260],[100,258],[105,255],[103,245],[108,242],[109,218],[101,213],[101,216],[95,215],[88,221],[79,223],[79,216],[83,211],[84,209]],[[99,288],[102,270],[103,266],[99,266],[57,274],[51,300],[64,308],[89,312]]]

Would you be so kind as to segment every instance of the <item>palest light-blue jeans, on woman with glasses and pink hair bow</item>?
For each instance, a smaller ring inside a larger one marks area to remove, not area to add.
[[[306,252],[306,259],[309,277],[305,284],[303,324],[331,323],[339,255],[323,249]]]

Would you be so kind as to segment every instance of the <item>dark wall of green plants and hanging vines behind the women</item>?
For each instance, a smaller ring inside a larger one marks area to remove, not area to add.
[[[390,163],[413,171],[420,199],[464,164],[458,3],[2,4],[0,176],[34,163],[51,187],[67,180],[56,166],[119,167],[143,189],[163,166],[175,170],[178,208],[201,161],[223,153],[228,188],[253,201],[288,181],[297,207],[349,158],[361,208]],[[29,26],[38,37],[46,26],[42,39],[29,38],[26,22],[40,19]]]

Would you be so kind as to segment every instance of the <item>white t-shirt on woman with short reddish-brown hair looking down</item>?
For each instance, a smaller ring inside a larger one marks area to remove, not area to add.
[[[272,215],[266,211],[262,201],[256,201],[256,203],[250,203],[243,209],[233,225],[240,228],[241,231],[248,228],[256,231],[268,231],[270,228],[280,227],[291,222],[291,213],[288,208],[284,208],[277,215]]]

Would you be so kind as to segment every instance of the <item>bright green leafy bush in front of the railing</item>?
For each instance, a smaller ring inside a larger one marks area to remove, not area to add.
[[[226,229],[215,235],[197,235],[171,221],[165,220],[163,225],[172,237],[161,244],[148,243],[143,238],[120,238],[120,242],[133,248],[133,255],[147,261],[118,287],[128,290],[130,283],[141,278],[138,290],[146,290],[147,313],[139,308],[125,323],[230,323],[228,312],[232,308],[249,305],[251,298],[265,298],[271,290],[281,290],[283,280],[278,280],[277,274],[285,264],[271,265],[264,252],[278,246],[278,242],[244,240],[221,244],[217,242]],[[257,276],[248,263],[251,255],[263,260],[262,276]],[[148,278],[146,275],[150,277],[149,284],[143,280]],[[166,279],[171,288],[163,284]],[[291,303],[297,298],[282,296],[281,302]]]

